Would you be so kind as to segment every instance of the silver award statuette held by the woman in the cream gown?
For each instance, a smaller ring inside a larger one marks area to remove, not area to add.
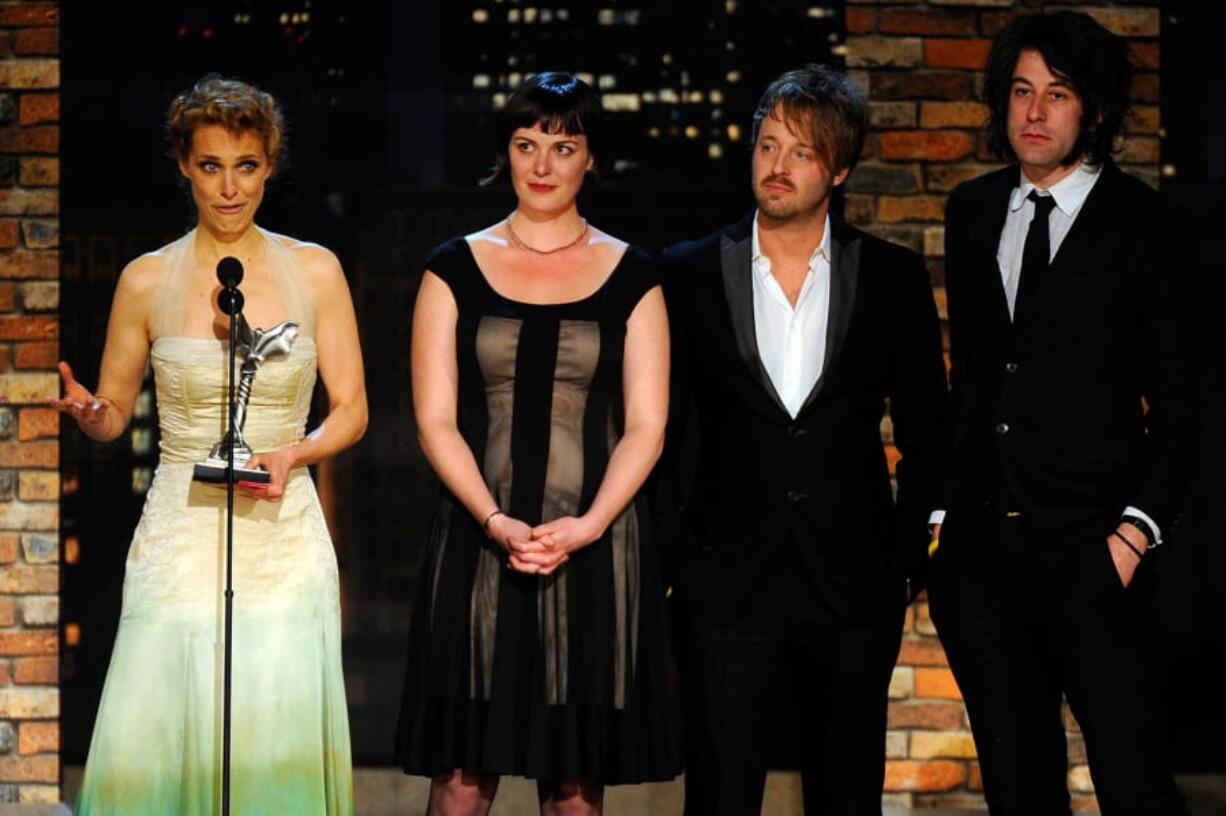
[[[246,403],[251,399],[251,383],[255,381],[255,372],[260,365],[287,357],[295,339],[298,339],[298,323],[287,320],[268,330],[253,330],[242,314],[238,316],[238,348],[235,353],[243,358],[243,368],[238,381],[238,393],[234,398],[234,426],[213,445],[208,458],[196,464],[192,479],[210,484],[224,484],[226,469],[229,467],[229,448],[233,444],[234,482],[268,483],[267,470],[244,467],[255,455],[251,446],[243,439]]]

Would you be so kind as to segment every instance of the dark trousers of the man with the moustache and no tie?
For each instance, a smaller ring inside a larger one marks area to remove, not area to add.
[[[888,691],[902,609],[835,618],[794,559],[772,569],[747,616],[714,624],[682,610],[685,815],[759,816],[772,746],[798,729],[804,812],[881,812]],[[776,717],[791,687],[796,709]]]

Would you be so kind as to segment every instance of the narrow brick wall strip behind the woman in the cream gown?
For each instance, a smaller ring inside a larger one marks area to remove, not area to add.
[[[58,26],[0,0],[0,803],[59,799]]]

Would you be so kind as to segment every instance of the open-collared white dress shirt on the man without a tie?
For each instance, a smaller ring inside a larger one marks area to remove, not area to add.
[[[830,317],[830,216],[821,243],[809,256],[809,271],[792,306],[770,272],[770,259],[758,241],[758,216],[753,229],[754,334],[758,355],[783,407],[794,418],[821,376],[826,359],[826,323]]]

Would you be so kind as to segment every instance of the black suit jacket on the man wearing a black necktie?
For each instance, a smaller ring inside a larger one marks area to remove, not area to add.
[[[945,212],[953,480],[942,546],[964,545],[984,502],[1057,546],[1101,542],[1128,505],[1168,533],[1197,447],[1189,243],[1154,190],[1108,163],[1010,321],[997,249],[1018,181],[1015,165],[967,181]]]

